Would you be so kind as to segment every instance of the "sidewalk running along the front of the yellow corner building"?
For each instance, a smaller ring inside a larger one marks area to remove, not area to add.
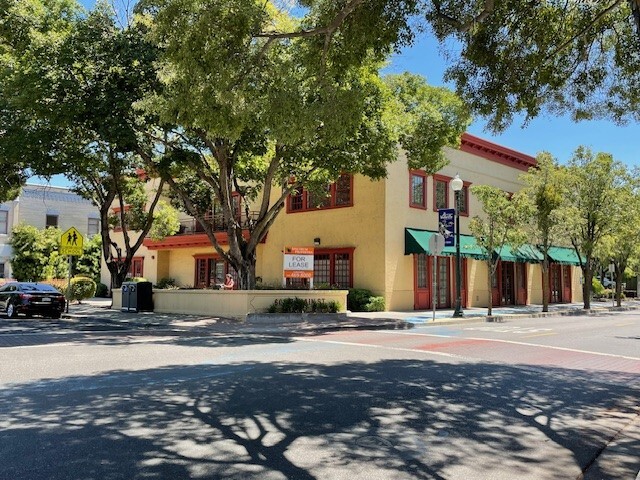
[[[111,326],[116,329],[175,329],[200,330],[216,328],[223,331],[250,332],[270,329],[321,330],[337,328],[385,328],[405,329],[413,326],[435,324],[462,324],[477,322],[502,322],[513,318],[536,318],[559,315],[597,315],[608,311],[635,310],[640,302],[627,300],[622,307],[614,307],[610,302],[592,302],[590,310],[584,310],[582,303],[554,304],[549,312],[543,313],[541,305],[523,305],[493,308],[492,316],[487,317],[486,308],[466,308],[462,318],[454,318],[453,309],[410,312],[349,312],[346,315],[317,315],[300,321],[285,319],[285,316],[272,316],[260,321],[240,322],[233,318],[215,315],[166,314],[157,312],[121,312],[110,308],[111,299],[92,298],[81,304],[72,304],[69,313],[63,319],[69,322],[94,325],[96,329]]]

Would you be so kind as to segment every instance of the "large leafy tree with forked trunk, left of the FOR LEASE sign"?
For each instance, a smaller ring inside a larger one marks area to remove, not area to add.
[[[256,247],[289,194],[326,194],[344,172],[382,178],[398,144],[412,167],[436,172],[442,147],[457,145],[469,123],[464,103],[445,89],[409,74],[383,81],[382,51],[354,54],[350,42],[329,48],[313,35],[269,37],[304,29],[312,17],[268,2],[146,1],[139,11],[162,46],[162,88],[139,105],[176,126],[156,136],[157,170],[238,271],[241,288],[253,285]],[[228,249],[216,237],[215,211]]]

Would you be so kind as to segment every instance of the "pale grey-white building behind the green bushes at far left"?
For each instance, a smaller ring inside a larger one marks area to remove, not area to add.
[[[27,184],[20,195],[0,204],[0,278],[11,278],[11,231],[19,224],[37,228],[75,227],[86,238],[100,233],[100,214],[89,201],[68,188]]]

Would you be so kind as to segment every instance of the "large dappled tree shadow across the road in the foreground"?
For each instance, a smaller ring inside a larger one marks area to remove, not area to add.
[[[0,391],[0,478],[575,478],[640,395],[613,372],[589,379],[387,359],[13,385]]]

